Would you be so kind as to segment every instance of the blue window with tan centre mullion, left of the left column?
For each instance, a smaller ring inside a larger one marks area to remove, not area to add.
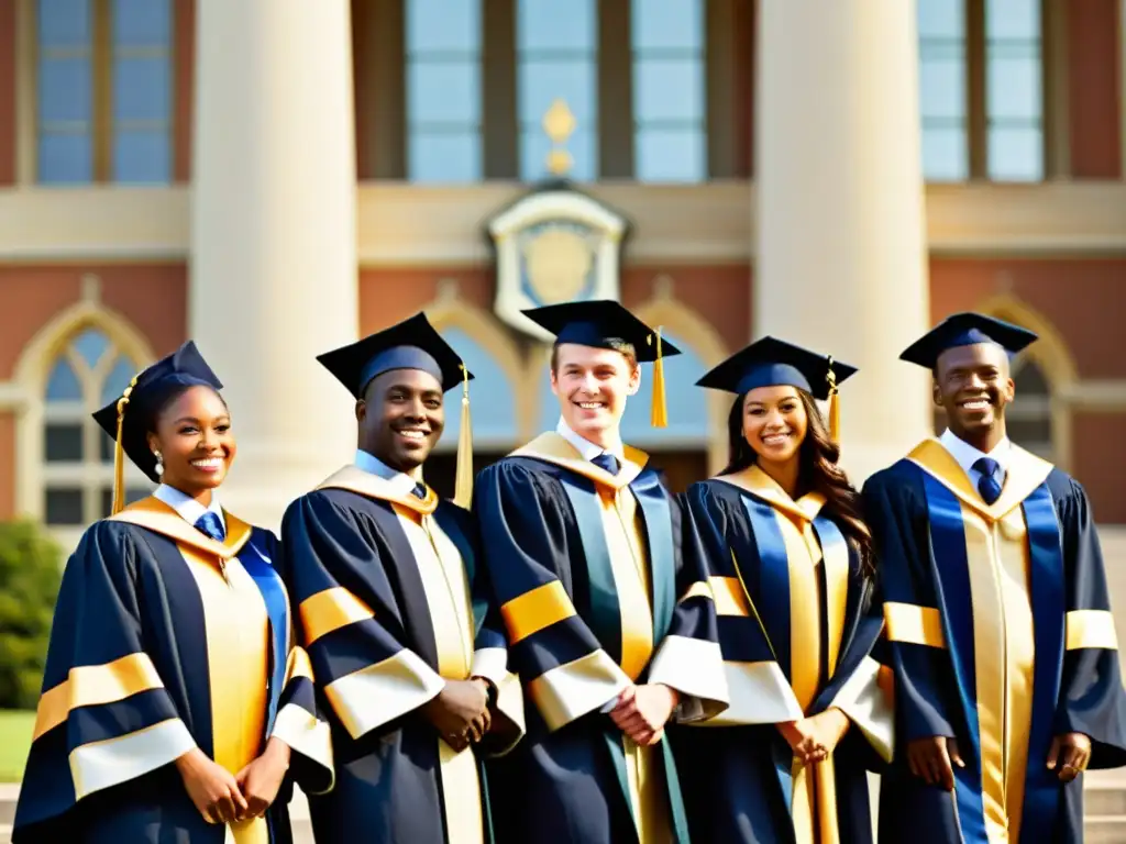
[[[38,180],[171,178],[171,0],[38,0]]]

